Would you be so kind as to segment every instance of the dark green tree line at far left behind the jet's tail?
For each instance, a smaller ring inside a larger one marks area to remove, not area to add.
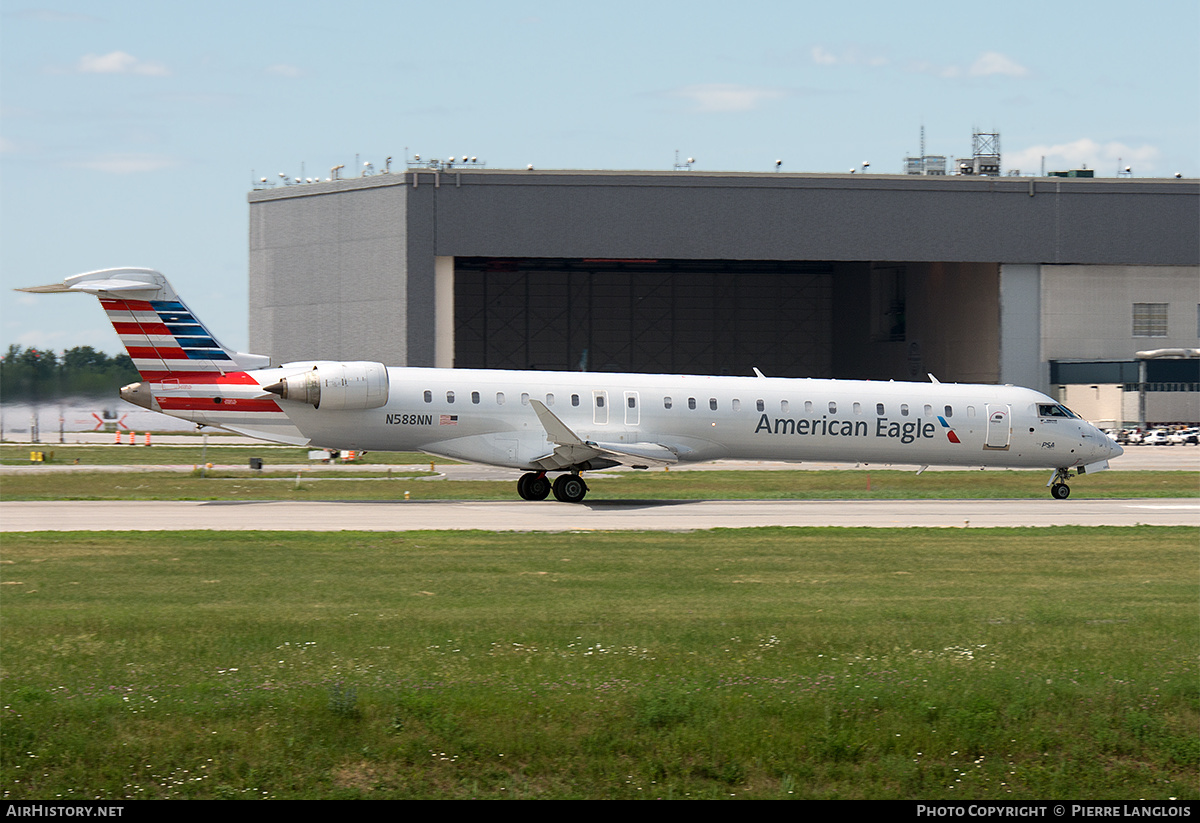
[[[118,389],[138,379],[130,355],[109,358],[90,346],[77,346],[59,354],[10,346],[0,358],[0,400],[4,402],[113,396]]]

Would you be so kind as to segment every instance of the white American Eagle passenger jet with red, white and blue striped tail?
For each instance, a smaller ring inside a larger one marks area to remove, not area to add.
[[[688,374],[271,365],[222,346],[152,269],[19,289],[100,298],[143,408],[270,443],[421,451],[522,471],[517,494],[580,503],[582,473],[718,459],[1050,469],[1056,499],[1122,447],[1051,397],[1009,385]],[[551,481],[551,474],[557,477]]]

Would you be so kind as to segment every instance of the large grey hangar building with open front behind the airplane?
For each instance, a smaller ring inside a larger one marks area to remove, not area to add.
[[[1145,383],[1150,420],[1200,421],[1200,360],[1136,356],[1200,347],[1200,184],[451,168],[263,188],[250,317],[276,362],[932,373],[1112,421]]]

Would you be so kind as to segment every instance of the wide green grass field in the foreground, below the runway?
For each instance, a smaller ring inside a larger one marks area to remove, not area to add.
[[[1196,799],[1198,536],[6,534],[0,791]]]

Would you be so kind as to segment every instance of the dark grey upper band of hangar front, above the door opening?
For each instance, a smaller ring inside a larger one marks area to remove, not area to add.
[[[1196,180],[409,169],[250,203],[380,188],[437,256],[1200,264]]]

